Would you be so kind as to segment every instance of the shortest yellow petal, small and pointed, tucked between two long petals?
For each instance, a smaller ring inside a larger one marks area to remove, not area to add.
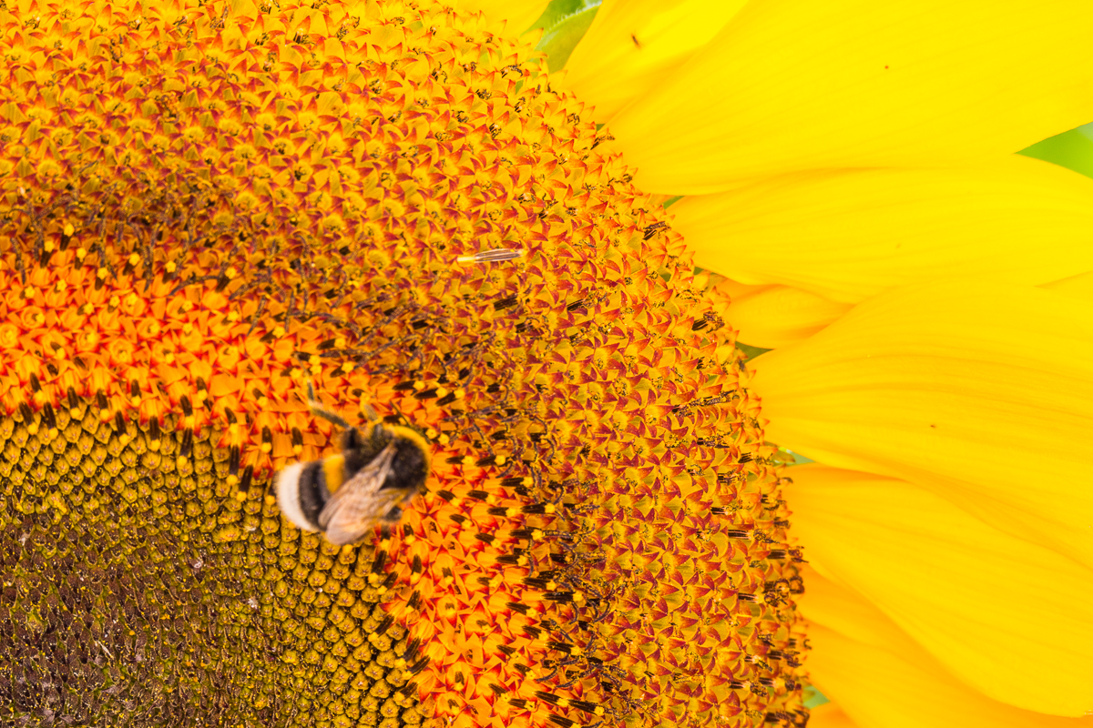
[[[726,322],[750,346],[774,349],[808,338],[850,310],[815,294],[789,286],[749,286],[732,297]]]

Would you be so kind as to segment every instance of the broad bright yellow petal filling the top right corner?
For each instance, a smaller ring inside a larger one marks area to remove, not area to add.
[[[649,192],[937,166],[1093,118],[1085,0],[756,0],[611,122]]]

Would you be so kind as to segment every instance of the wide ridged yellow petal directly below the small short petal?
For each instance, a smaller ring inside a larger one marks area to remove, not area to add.
[[[754,368],[771,441],[924,486],[1093,565],[1093,303],[898,288]]]

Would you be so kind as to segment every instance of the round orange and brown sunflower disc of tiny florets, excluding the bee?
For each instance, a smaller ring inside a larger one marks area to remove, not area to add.
[[[721,305],[541,60],[428,0],[0,26],[9,717],[803,724]],[[393,533],[267,493],[308,381],[425,434]]]

